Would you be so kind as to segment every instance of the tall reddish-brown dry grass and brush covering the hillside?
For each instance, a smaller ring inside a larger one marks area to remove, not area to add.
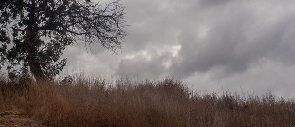
[[[0,82],[0,111],[50,127],[295,127],[295,102],[274,97],[199,94],[163,81],[106,82],[99,77],[36,84]]]

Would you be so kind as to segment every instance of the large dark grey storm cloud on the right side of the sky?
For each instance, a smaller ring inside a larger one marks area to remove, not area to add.
[[[214,67],[224,68],[223,75],[242,72],[250,63],[264,57],[283,63],[288,61],[294,65],[295,45],[292,35],[295,34],[295,18],[292,15],[295,13],[283,16],[279,14],[276,19],[255,19],[255,13],[252,14],[247,8],[233,8],[227,9],[236,12],[214,12],[223,18],[213,18],[215,22],[210,24],[211,28],[204,40],[198,39],[191,31],[182,33],[182,61],[172,67],[176,68],[174,74],[190,76],[194,72],[209,71]]]

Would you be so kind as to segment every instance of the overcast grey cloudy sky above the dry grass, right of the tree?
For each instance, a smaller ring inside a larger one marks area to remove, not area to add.
[[[108,1],[108,0],[104,0]],[[295,99],[295,0],[122,0],[117,55],[67,47],[66,71],[181,79],[200,92],[267,91]]]

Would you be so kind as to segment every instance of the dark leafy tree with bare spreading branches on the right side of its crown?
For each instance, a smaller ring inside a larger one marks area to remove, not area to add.
[[[11,78],[29,70],[36,79],[51,78],[75,42],[115,52],[125,36],[124,7],[119,0],[102,7],[90,0],[1,0],[0,69],[6,65]]]

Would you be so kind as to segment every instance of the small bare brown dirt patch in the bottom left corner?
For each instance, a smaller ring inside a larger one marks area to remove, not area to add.
[[[0,127],[43,127],[40,123],[22,117],[13,111],[0,112]]]

